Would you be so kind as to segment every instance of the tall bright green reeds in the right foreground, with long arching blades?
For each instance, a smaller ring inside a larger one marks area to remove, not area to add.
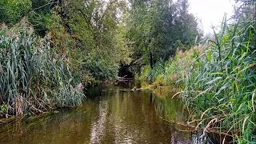
[[[246,12],[235,15],[231,24],[223,19],[222,30],[214,32],[214,40],[197,59],[198,66],[185,78],[182,97],[190,108],[196,107],[190,113],[200,115],[198,126],[223,132],[223,141],[230,134],[238,143],[254,143],[255,2],[239,4]]]

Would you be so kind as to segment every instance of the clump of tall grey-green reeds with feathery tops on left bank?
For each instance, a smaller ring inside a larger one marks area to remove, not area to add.
[[[76,106],[85,95],[72,77],[66,55],[50,48],[26,22],[0,30],[0,105],[11,115],[42,113],[56,106]]]

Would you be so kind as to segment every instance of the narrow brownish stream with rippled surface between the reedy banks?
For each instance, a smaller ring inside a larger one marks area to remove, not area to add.
[[[180,100],[170,91],[130,91],[133,86],[90,88],[78,108],[1,126],[0,143],[193,143],[178,124],[186,122]]]

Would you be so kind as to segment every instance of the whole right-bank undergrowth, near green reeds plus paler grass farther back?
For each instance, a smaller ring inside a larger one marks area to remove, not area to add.
[[[144,66],[140,78],[157,86],[178,84],[189,124],[238,143],[256,142],[256,37],[254,2],[199,49],[178,51],[173,60]],[[241,6],[242,7],[242,6]],[[229,22],[229,23],[228,23]],[[175,95],[178,95],[175,94]]]

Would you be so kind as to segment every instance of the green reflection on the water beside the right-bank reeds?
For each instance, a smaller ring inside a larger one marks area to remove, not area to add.
[[[181,99],[172,98],[174,91],[170,89],[154,90],[154,109],[162,120],[170,122],[171,143],[190,143],[190,134],[182,133],[180,130],[190,130],[186,124],[186,111],[183,109]],[[187,141],[187,142],[186,142]]]

